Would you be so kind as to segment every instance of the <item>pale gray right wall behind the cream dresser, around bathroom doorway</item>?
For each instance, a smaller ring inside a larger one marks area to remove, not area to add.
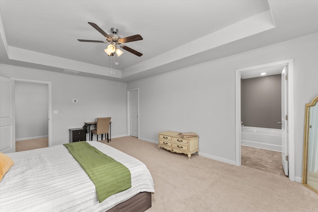
[[[193,131],[201,155],[235,164],[235,70],[291,58],[299,180],[305,104],[318,95],[318,33],[129,82],[140,92],[140,138],[158,142],[160,131]]]

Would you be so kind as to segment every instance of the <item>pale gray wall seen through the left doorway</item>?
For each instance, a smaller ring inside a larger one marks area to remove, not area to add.
[[[48,86],[15,82],[15,139],[48,136]]]

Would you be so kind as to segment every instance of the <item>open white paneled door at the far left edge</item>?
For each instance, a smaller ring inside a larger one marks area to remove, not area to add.
[[[0,76],[0,151],[15,152],[14,80]]]

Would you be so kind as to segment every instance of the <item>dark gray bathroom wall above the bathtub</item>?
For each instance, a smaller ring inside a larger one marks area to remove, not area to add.
[[[241,79],[244,126],[281,129],[281,74]]]

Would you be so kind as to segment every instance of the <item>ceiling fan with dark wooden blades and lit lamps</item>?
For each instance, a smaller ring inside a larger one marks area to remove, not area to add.
[[[129,37],[121,38],[117,35],[118,29],[117,28],[111,28],[111,31],[113,34],[108,35],[106,32],[104,32],[97,24],[88,22],[89,25],[94,27],[98,32],[100,32],[103,36],[105,36],[106,41],[95,41],[95,40],[82,40],[78,39],[80,42],[94,42],[94,43],[108,43],[107,49],[105,49],[105,53],[108,56],[114,56],[114,53],[116,52],[117,56],[119,57],[123,52],[118,48],[122,48],[130,53],[133,53],[134,55],[137,55],[138,57],[141,57],[143,54],[140,52],[137,52],[136,50],[129,48],[128,46],[123,45],[123,43],[133,42],[133,41],[139,41],[143,40],[143,37],[141,35],[132,35]]]

